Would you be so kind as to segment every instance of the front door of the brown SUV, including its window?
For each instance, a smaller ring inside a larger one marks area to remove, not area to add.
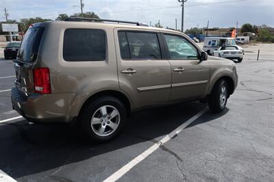
[[[201,99],[208,92],[210,65],[200,62],[198,49],[188,38],[164,34],[172,71],[171,101]]]

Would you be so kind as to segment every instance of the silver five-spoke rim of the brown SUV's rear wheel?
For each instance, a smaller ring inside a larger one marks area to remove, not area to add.
[[[90,125],[95,134],[105,137],[118,129],[120,120],[120,113],[116,107],[103,105],[92,115]]]

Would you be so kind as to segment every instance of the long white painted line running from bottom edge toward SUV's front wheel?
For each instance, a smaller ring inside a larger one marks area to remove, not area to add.
[[[200,112],[198,112],[197,114],[195,114],[195,116],[192,116],[189,120],[184,122],[182,125],[177,127],[175,130],[171,131],[171,133],[166,135],[164,138],[162,138],[162,140],[160,140],[160,142],[153,144],[153,146],[151,146],[149,149],[147,149],[147,151],[141,153],[140,155],[138,155],[137,157],[132,159],[132,161],[129,161],[129,163],[125,164],[125,166],[123,166],[122,168],[120,168],[119,170],[114,172],[114,174],[112,174],[110,177],[105,179],[104,182],[116,181],[116,180],[120,179],[125,173],[127,173],[134,166],[136,166],[138,163],[140,163],[140,161],[144,160],[147,156],[149,156],[151,153],[156,151],[161,145],[163,145],[164,143],[171,140],[171,138],[173,138],[175,135],[177,135],[177,133],[179,133],[184,128],[186,128],[188,125],[190,125],[191,122],[197,120],[197,118],[199,118],[201,115],[203,115],[207,110],[208,110],[208,108],[206,107],[205,109],[203,109]]]

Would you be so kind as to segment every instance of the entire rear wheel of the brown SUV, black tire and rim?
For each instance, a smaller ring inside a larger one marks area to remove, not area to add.
[[[81,131],[92,142],[103,143],[115,138],[123,129],[127,111],[119,99],[101,96],[84,106],[79,118]]]

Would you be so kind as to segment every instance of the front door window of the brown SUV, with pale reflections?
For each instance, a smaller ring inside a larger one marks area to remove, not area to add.
[[[197,60],[197,49],[187,40],[179,36],[164,35],[173,60]]]

